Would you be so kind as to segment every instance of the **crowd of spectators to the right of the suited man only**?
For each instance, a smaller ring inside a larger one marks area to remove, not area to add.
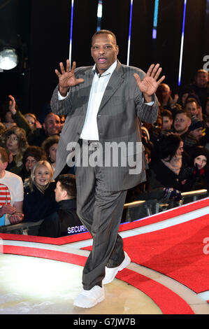
[[[164,197],[179,200],[181,193],[209,188],[208,72],[196,72],[194,83],[171,97],[161,83],[159,113],[154,125],[142,123],[142,141],[149,169],[147,182],[128,191],[127,200]],[[161,190],[161,193],[160,193]],[[155,191],[155,194],[153,194]]]

